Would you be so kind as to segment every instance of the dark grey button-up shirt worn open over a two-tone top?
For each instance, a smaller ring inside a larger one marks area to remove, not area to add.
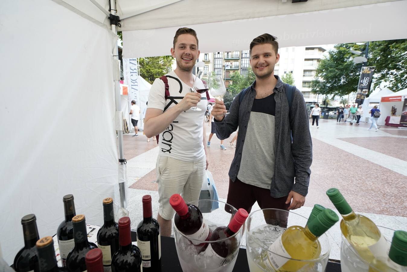
[[[295,90],[291,105],[291,118],[289,118],[285,85],[278,76],[275,77],[277,79],[274,88],[276,93],[274,95],[276,100],[276,160],[274,176],[270,178],[270,195],[275,198],[284,197],[292,190],[306,196],[311,175],[312,140],[304,97],[300,90]],[[242,92],[233,100],[229,109],[230,114],[226,115],[221,122],[215,119],[216,136],[221,140],[228,138],[239,126],[236,151],[229,170],[229,177],[233,182],[239,173],[247,123],[256,97],[255,84],[256,81],[249,87],[241,105],[239,105],[239,97]],[[292,132],[293,143],[291,143],[290,131]]]

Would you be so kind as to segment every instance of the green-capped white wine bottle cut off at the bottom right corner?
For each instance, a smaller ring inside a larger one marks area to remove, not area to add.
[[[387,258],[378,257],[370,263],[369,272],[407,271],[407,232],[396,230]]]

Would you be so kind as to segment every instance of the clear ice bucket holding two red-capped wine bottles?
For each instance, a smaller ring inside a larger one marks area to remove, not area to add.
[[[219,208],[209,209],[207,207],[213,207],[216,202]],[[216,200],[198,200],[190,202],[188,204],[194,204],[199,207],[203,212],[206,224],[209,225],[210,232],[213,232],[217,227],[228,226],[230,219],[237,212],[237,209],[233,206]],[[230,211],[226,212],[226,210]],[[174,222],[174,221],[173,221]],[[181,233],[174,225],[174,238],[175,248],[177,249],[179,263],[181,264],[182,271],[184,272],[232,272],[234,264],[236,263],[237,255],[241,245],[243,226],[240,230],[223,240],[218,241],[199,241],[191,239],[188,236]],[[233,244],[235,247],[228,248],[228,254],[226,258],[214,257],[211,252],[206,250],[212,243],[234,239]],[[195,243],[195,244],[194,244]],[[196,246],[198,245],[198,246]]]

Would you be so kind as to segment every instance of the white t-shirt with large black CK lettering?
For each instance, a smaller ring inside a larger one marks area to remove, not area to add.
[[[159,78],[155,79],[150,89],[147,108],[155,108],[165,112],[167,108],[174,107],[179,103],[188,92],[193,92],[193,89],[182,82],[174,71],[169,72],[167,76],[170,96],[165,100],[164,82]],[[159,156],[168,156],[188,162],[201,160],[205,156],[202,138],[208,100],[206,94],[201,96],[201,101],[197,104],[201,111],[189,109],[186,112],[181,112],[173,123],[160,134]]]

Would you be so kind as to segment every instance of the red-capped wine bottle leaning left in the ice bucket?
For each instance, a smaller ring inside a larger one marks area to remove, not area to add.
[[[180,232],[189,238],[205,241],[209,236],[209,227],[204,220],[199,208],[193,204],[186,204],[179,194],[174,194],[170,198],[170,204],[177,212],[174,217],[174,224]],[[199,245],[197,241],[192,242]]]

